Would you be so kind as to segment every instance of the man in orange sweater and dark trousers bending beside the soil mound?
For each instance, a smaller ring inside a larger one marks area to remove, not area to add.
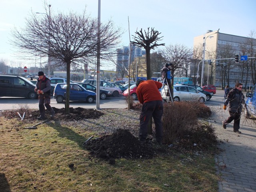
[[[138,100],[143,104],[140,112],[140,141],[146,142],[148,135],[148,122],[153,116],[154,123],[156,125],[156,142],[162,144],[163,127],[162,127],[162,115],[163,115],[163,102],[162,96],[159,92],[159,88],[162,87],[162,83],[153,80],[137,80],[136,93]]]

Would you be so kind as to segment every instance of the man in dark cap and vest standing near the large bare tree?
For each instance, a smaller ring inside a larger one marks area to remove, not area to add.
[[[36,82],[35,92],[39,95],[39,111],[40,116],[37,118],[38,120],[43,120],[45,118],[45,108],[50,111],[51,117],[54,116],[54,110],[50,106],[51,101],[51,81],[46,76],[44,76],[44,72],[38,72],[38,80]]]

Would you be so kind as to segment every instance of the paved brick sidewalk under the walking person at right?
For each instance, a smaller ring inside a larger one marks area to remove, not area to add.
[[[233,132],[233,122],[222,128],[228,110],[217,109],[210,122],[216,128],[220,154],[216,155],[216,168],[221,177],[218,192],[256,192],[256,120],[245,119],[242,113],[240,131]]]

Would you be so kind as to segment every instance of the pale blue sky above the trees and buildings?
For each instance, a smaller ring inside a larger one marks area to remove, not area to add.
[[[98,16],[98,0],[48,0],[52,14],[86,8],[93,17]],[[130,33],[141,28],[154,27],[161,32],[161,43],[193,46],[193,38],[207,30],[248,36],[256,31],[255,0],[101,0],[101,21],[112,19],[126,32],[122,46],[129,43]],[[42,0],[1,0],[0,7],[0,59],[17,61],[8,39],[10,29],[22,27],[30,11],[44,12]],[[24,62],[26,64],[26,62]],[[27,66],[29,63],[27,62]],[[34,66],[34,65],[33,65]]]

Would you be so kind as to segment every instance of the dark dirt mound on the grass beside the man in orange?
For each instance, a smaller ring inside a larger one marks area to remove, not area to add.
[[[89,140],[84,147],[93,156],[106,160],[115,158],[152,158],[152,147],[140,142],[128,130],[118,129],[111,135]]]

